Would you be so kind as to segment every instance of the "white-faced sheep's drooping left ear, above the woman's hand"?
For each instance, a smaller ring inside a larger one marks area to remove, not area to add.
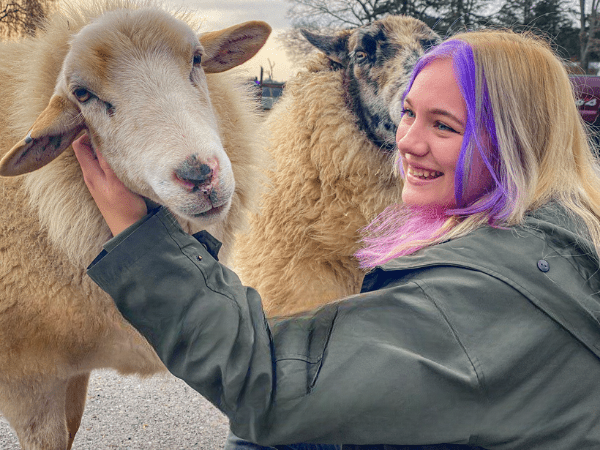
[[[52,96],[27,136],[0,160],[0,175],[22,175],[45,166],[71,145],[83,128],[77,106],[64,97]]]

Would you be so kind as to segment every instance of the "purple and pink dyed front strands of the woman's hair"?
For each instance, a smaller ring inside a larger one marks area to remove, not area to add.
[[[450,58],[454,75],[465,100],[467,122],[456,163],[454,196],[456,208],[432,209],[427,206],[393,205],[382,212],[363,230],[364,247],[356,253],[363,268],[383,264],[393,258],[409,255],[430,245],[451,227],[448,219],[483,213],[492,226],[500,225],[511,211],[509,190],[500,175],[500,155],[496,124],[483,70],[477,74],[473,49],[460,40],[449,40],[423,55],[415,65],[402,101],[421,70],[436,59]],[[478,79],[480,80],[478,85]],[[471,162],[477,152],[493,179],[493,187],[484,195],[466,204],[464,199],[474,174]],[[402,176],[405,174],[400,164]]]

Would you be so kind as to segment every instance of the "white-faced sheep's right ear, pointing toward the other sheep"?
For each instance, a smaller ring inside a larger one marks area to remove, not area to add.
[[[251,21],[211,31],[200,36],[205,55],[202,67],[206,73],[225,72],[252,58],[265,45],[271,27],[265,22]]]

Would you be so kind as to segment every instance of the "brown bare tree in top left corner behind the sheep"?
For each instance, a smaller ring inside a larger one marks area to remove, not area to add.
[[[35,34],[48,6],[48,0],[0,0],[0,37]]]

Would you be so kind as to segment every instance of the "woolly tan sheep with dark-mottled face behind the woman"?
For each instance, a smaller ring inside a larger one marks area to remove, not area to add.
[[[305,36],[322,53],[286,84],[270,113],[277,166],[236,247],[238,273],[260,292],[269,316],[359,291],[359,230],[400,200],[392,117],[399,121],[412,65],[438,39],[401,16]]]

